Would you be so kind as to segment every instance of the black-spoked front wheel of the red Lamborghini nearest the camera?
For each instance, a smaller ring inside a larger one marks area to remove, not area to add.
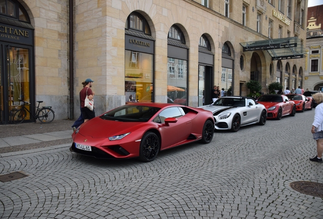
[[[139,159],[143,162],[153,161],[160,150],[160,141],[153,132],[146,132],[140,142]]]

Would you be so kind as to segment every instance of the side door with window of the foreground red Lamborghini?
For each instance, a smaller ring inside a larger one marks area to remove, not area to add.
[[[167,118],[176,118],[176,123],[165,123]],[[159,123],[161,135],[161,149],[172,147],[187,139],[191,132],[191,119],[185,116],[182,108],[174,106],[164,109],[154,118],[153,122]]]

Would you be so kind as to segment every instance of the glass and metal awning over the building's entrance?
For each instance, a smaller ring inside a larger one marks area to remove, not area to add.
[[[272,60],[303,58],[305,48],[297,37],[240,43],[243,51],[267,50]]]

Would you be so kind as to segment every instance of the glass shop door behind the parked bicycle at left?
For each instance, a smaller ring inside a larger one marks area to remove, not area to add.
[[[8,108],[9,120],[21,108],[21,100],[30,102],[29,93],[29,49],[7,47]],[[29,109],[29,105],[26,105]],[[25,120],[29,120],[29,114]]]

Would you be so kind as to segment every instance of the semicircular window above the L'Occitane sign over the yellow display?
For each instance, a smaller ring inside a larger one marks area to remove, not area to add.
[[[125,22],[125,29],[131,29],[151,35],[146,19],[136,12],[128,16],[127,22]]]

